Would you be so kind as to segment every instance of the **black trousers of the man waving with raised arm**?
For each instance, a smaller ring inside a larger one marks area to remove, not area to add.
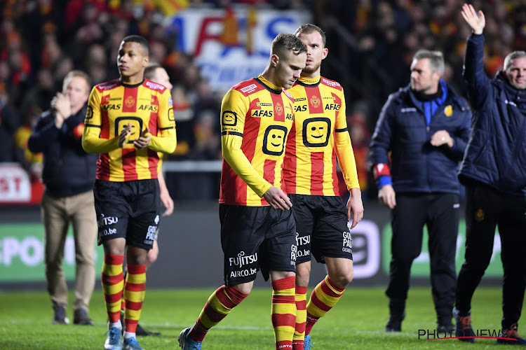
[[[490,265],[495,228],[501,238],[502,329],[520,318],[526,288],[526,197],[503,195],[480,183],[466,186],[466,261],[457,281],[456,307],[471,309],[471,297]]]

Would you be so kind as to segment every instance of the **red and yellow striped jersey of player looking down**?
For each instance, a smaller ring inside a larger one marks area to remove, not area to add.
[[[261,207],[281,188],[285,140],[294,99],[259,75],[234,86],[221,104],[223,168],[220,203]]]

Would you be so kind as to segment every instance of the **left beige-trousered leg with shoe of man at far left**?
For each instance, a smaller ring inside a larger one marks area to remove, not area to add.
[[[55,310],[53,323],[69,323],[66,316],[67,284],[62,269],[69,219],[64,210],[63,200],[44,193],[41,216],[45,237],[46,283]]]

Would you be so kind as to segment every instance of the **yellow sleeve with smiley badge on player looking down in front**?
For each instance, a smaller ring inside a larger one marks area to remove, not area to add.
[[[272,185],[256,172],[245,153],[241,151],[248,103],[248,99],[236,90],[230,90],[224,95],[221,103],[221,147],[224,160],[259,197],[262,197]]]

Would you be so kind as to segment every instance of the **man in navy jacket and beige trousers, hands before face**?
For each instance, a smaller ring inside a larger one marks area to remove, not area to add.
[[[93,183],[98,155],[81,145],[90,83],[86,73],[71,71],[64,78],[62,93],[51,100],[51,109],[41,114],[29,137],[32,152],[43,153],[41,201],[45,230],[45,263],[48,293],[53,302],[53,323],[69,323],[67,284],[62,270],[69,223],[75,241],[74,323],[93,325],[88,306],[95,287],[95,239],[97,218]]]

